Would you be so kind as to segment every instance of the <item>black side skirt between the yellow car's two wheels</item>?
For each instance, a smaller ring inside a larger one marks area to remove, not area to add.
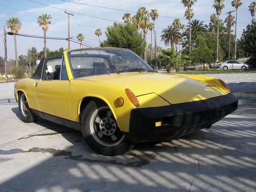
[[[63,119],[61,117],[57,117],[57,116],[50,115],[50,114],[47,114],[47,113],[43,113],[43,112],[40,112],[40,111],[37,111],[37,110],[33,110],[33,109],[31,109],[31,111],[36,116],[41,117],[42,119],[46,119],[48,121],[52,121],[52,122],[61,124],[63,126],[71,127],[72,129],[75,129],[77,131],[81,131],[81,125],[78,122],[71,121],[71,120],[68,120],[68,119]]]

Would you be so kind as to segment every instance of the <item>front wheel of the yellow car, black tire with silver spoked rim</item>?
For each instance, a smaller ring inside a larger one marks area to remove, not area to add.
[[[101,155],[121,155],[134,146],[117,127],[109,106],[102,102],[90,101],[82,110],[81,132],[92,150]]]

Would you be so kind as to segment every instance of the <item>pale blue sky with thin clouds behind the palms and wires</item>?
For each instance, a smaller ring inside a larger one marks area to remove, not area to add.
[[[74,4],[69,2],[63,2],[61,0],[33,0],[38,3],[51,5],[60,9],[65,9],[68,11],[73,11],[77,13],[82,13],[86,15],[91,15],[95,17],[116,20],[118,22],[122,22],[122,15],[125,13],[124,11],[110,10],[97,8],[87,5]],[[78,2],[90,5],[97,5],[103,7],[110,7],[115,9],[129,10],[136,12],[139,7],[146,7],[147,10],[158,9],[159,15],[169,16],[169,17],[179,17],[184,18],[185,8],[182,4],[180,4],[180,0],[69,0],[71,2]],[[215,9],[212,8],[213,0],[198,0],[197,3],[193,6],[194,9],[194,18],[206,21],[205,24],[208,24],[209,16],[212,13],[215,13]],[[251,3],[251,0],[243,0],[242,7],[239,8],[238,11],[238,37],[240,38],[243,29],[251,22],[251,15],[248,11],[248,6]],[[225,8],[222,10],[222,14],[220,16],[221,19],[226,18],[226,14],[228,11],[233,10],[231,7],[231,0],[226,0],[224,2]],[[44,5],[40,5],[29,0],[12,0],[12,1],[0,1],[0,27],[6,24],[6,20],[11,16],[16,16],[22,22],[22,28],[19,30],[19,33],[24,34],[33,34],[33,35],[44,35],[42,29],[37,24],[37,16],[42,13],[47,13],[52,16],[52,24],[49,26],[47,31],[47,36],[54,37],[68,37],[68,25],[67,25],[67,14],[64,11],[47,7]],[[133,13],[132,13],[133,14]],[[235,12],[233,12],[235,15]],[[173,23],[174,18],[168,17],[159,17],[156,20],[156,31],[157,31],[157,44],[160,47],[164,47],[163,42],[160,41],[161,31]],[[187,20],[181,20],[183,24],[187,25]],[[78,33],[82,33],[85,36],[85,43],[90,44],[90,46],[98,46],[98,37],[94,34],[94,31],[97,28],[102,30],[102,36],[100,36],[100,40],[106,39],[105,30],[107,26],[111,26],[113,24],[112,21],[94,18],[90,16],[84,16],[74,13],[74,16],[70,18],[71,22],[71,36],[76,36]],[[2,29],[1,29],[2,30]],[[234,27],[233,27],[234,30]],[[7,29],[7,31],[9,31]],[[3,33],[2,33],[3,34]],[[3,35],[1,35],[3,38]],[[147,35],[147,42],[150,43],[151,37],[150,32]],[[4,56],[4,48],[3,41],[2,46],[0,46],[0,56]],[[78,47],[78,44],[71,42],[71,48]],[[44,47],[43,39],[29,38],[17,36],[17,48],[18,55],[26,55],[28,49],[31,47],[36,47],[37,51],[41,51]],[[60,47],[67,49],[68,41],[66,40],[51,40],[47,39],[47,47],[50,50],[56,50]],[[7,51],[8,51],[8,59],[14,58],[14,41],[13,36],[7,36]]]

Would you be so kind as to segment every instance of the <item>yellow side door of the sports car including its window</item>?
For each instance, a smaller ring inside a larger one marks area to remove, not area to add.
[[[69,90],[70,81],[63,56],[47,59],[41,80],[35,82],[40,111],[71,119]]]

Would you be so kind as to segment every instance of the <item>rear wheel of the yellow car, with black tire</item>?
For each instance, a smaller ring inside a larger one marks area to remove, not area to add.
[[[26,123],[36,121],[37,116],[30,110],[28,100],[23,92],[18,94],[18,109],[20,115],[22,116],[22,121]]]

